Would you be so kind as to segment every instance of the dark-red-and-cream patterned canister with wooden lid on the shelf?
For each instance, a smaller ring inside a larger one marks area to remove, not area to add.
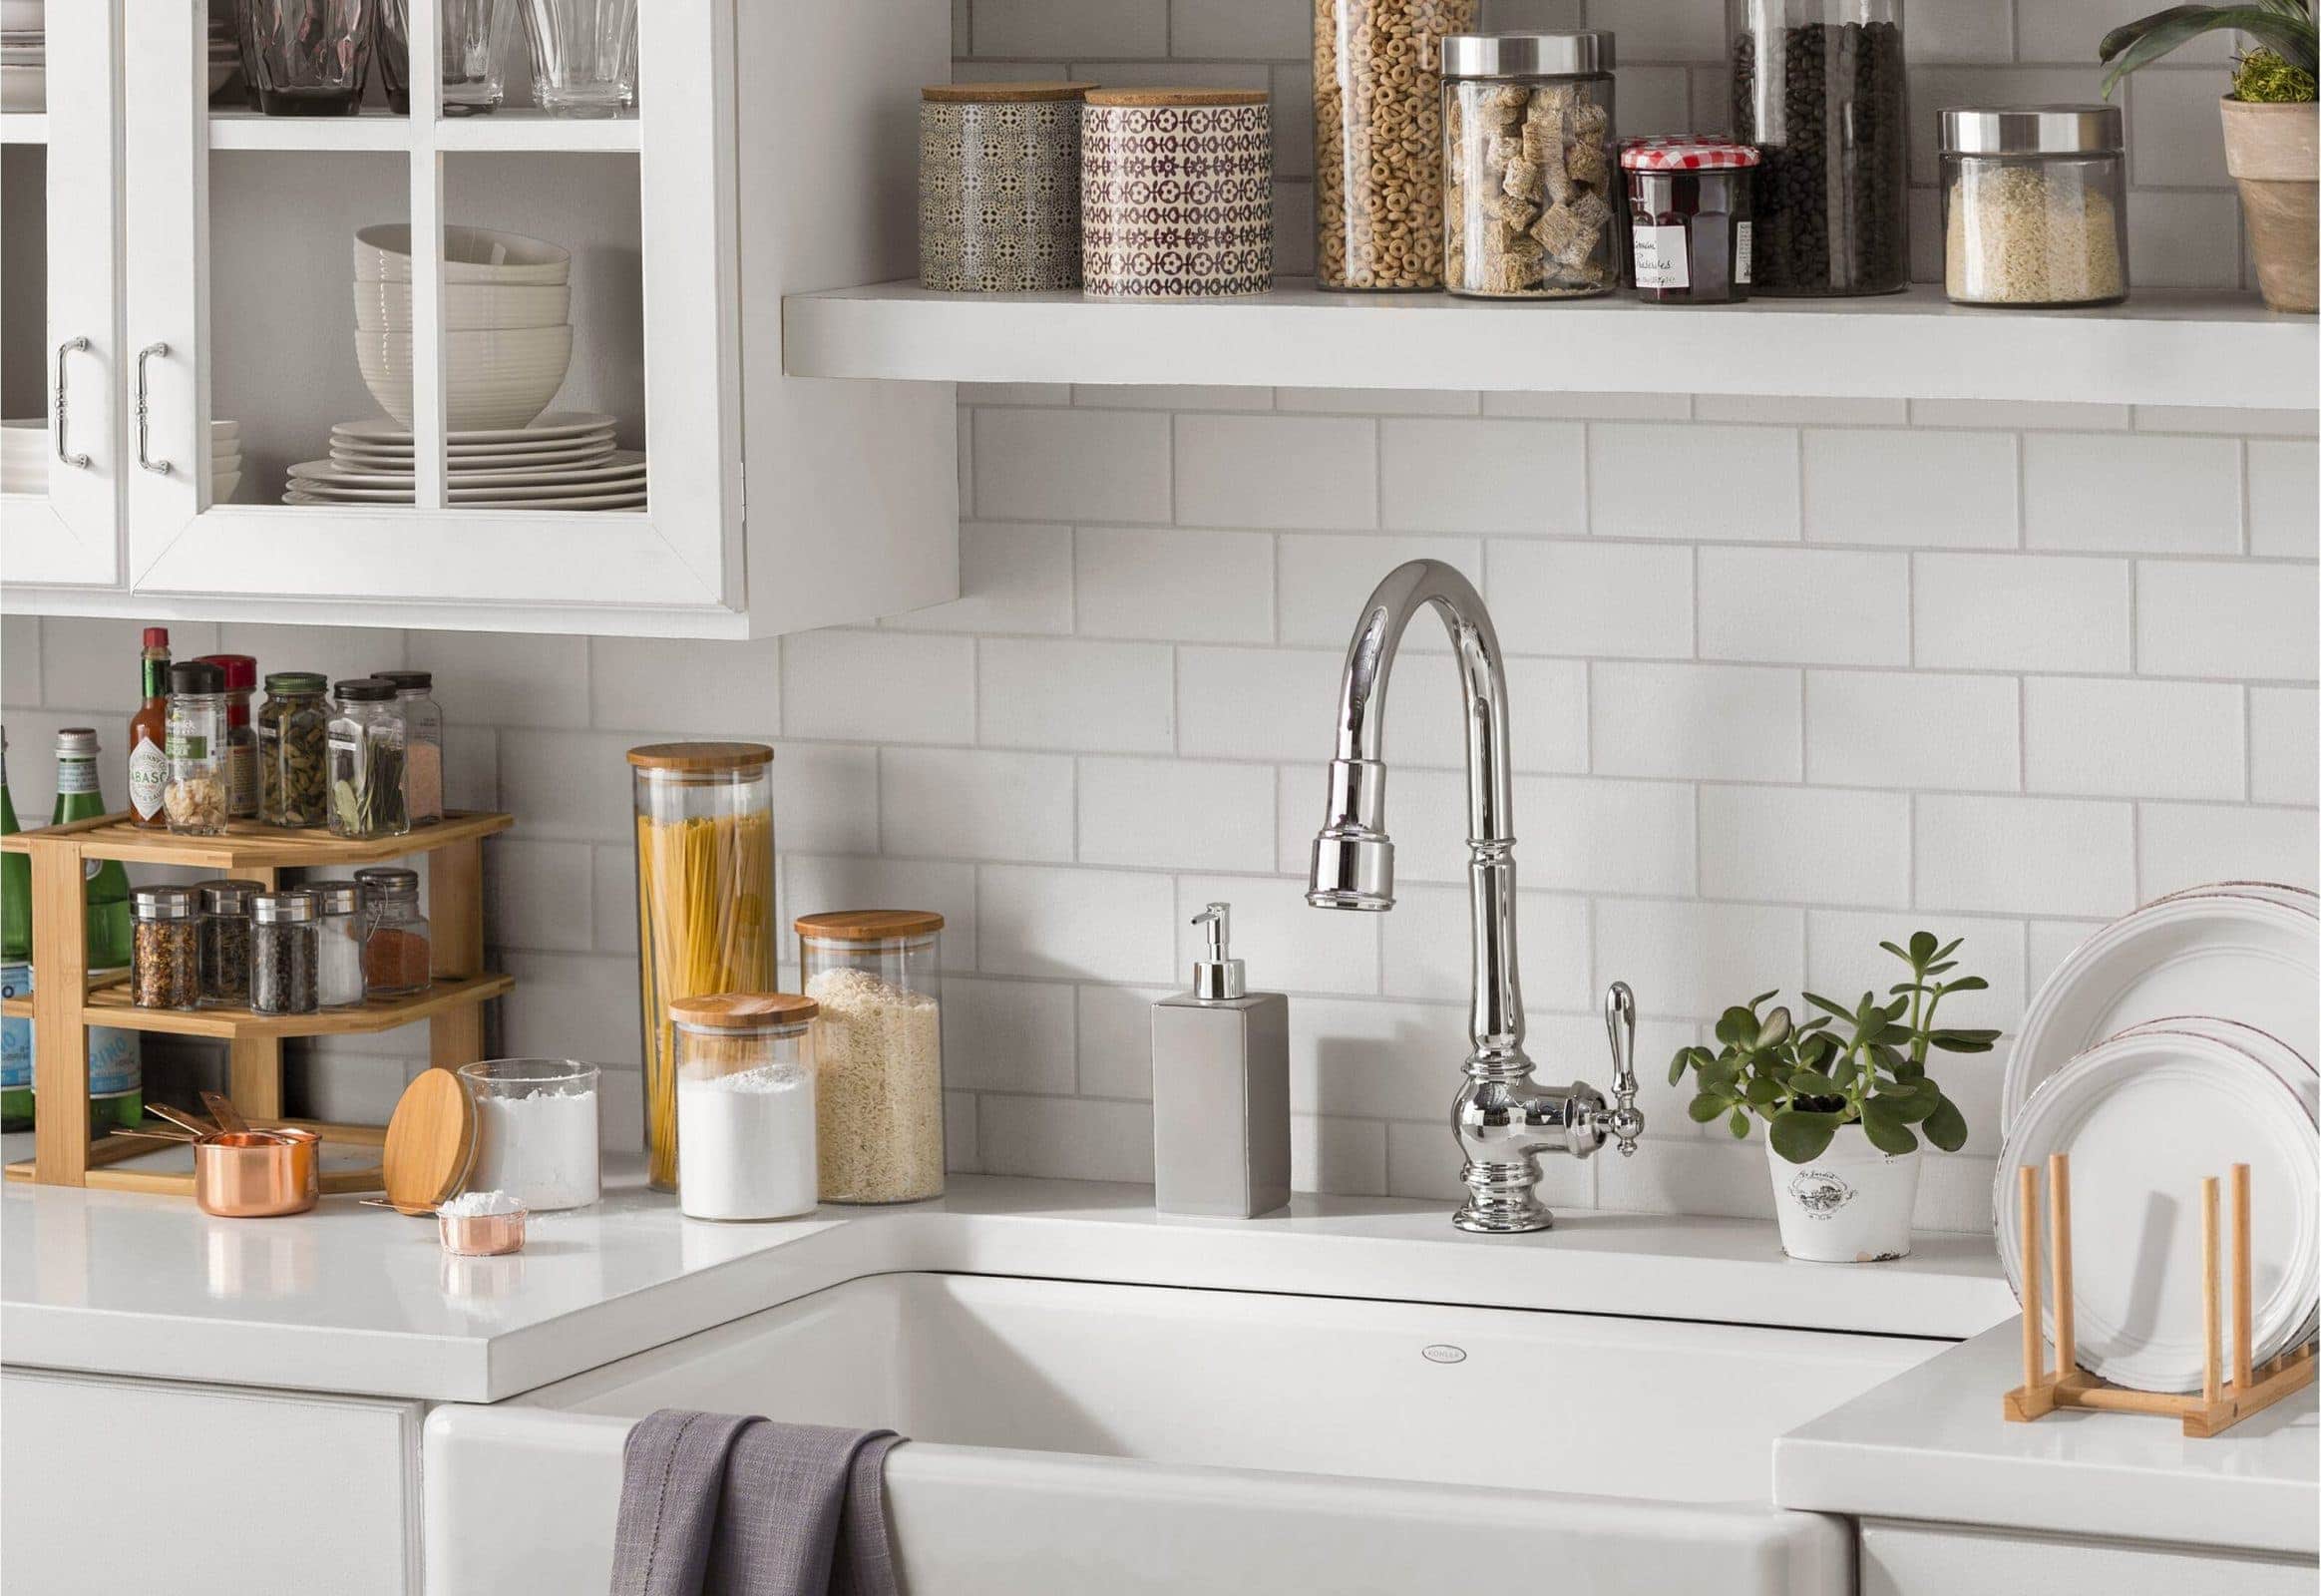
[[[1086,292],[1263,295],[1274,285],[1272,165],[1260,90],[1091,90],[1079,137]]]

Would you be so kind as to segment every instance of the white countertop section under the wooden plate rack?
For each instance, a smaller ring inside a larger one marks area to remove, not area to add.
[[[1854,1517],[2321,1550],[2314,1387],[2224,1436],[2138,1413],[1998,1415],[2022,1385],[2022,1318],[1773,1443],[1773,1501]]]

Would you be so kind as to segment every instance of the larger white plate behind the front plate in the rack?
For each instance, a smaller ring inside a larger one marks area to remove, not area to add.
[[[2056,965],[2015,1032],[2001,1127],[2040,1081],[2128,1025],[2219,1014],[2321,1058],[2321,921],[2228,891],[2147,902]]]

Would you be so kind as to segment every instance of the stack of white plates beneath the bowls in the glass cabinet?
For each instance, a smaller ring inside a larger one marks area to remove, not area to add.
[[[613,438],[610,415],[552,413],[532,427],[462,429],[446,445],[453,506],[499,510],[636,510],[645,457]],[[388,422],[339,422],[330,459],[290,466],[283,503],[411,503],[411,434]]]

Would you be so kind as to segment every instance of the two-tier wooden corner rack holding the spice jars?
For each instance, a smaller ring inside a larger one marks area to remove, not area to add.
[[[9,1181],[100,1185],[128,1192],[193,1195],[193,1176],[162,1169],[116,1169],[153,1153],[135,1137],[88,1134],[88,1028],[156,1030],[216,1037],[227,1044],[227,1095],[253,1125],[297,1125],[323,1141],[383,1148],[383,1125],[285,1120],[283,1037],[346,1037],[427,1021],[429,1060],[450,1069],[483,1058],[483,1004],[515,986],[483,970],[483,840],[515,819],[453,810],[402,837],[353,842],[323,830],[283,830],[232,821],[225,835],[188,837],[135,826],[128,812],[44,826],[0,840],[32,856],[32,995],[0,1002],[9,1018],[32,1021],[32,1158],[7,1165]],[[355,1009],[253,1014],[251,1009],[139,1009],[125,972],[91,981],[84,861],[179,865],[260,882],[283,870],[348,872],[390,858],[425,856],[427,930],[434,981],[411,998],[378,998]],[[381,1190],[381,1171],[325,1169],[325,1192]]]

